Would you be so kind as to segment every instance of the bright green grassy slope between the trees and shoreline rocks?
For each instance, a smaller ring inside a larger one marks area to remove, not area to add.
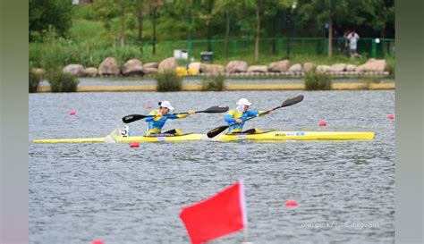
[[[54,29],[49,29],[43,39],[30,43],[30,64],[32,67],[44,69],[61,68],[69,63],[80,63],[84,67],[98,67],[106,57],[113,56],[120,65],[131,58],[137,58],[143,63],[160,62],[166,57],[173,56],[174,49],[189,49],[189,42],[182,40],[169,40],[158,25],[158,39],[156,54],[153,55],[153,44],[151,43],[151,22],[144,21],[143,41],[138,41],[138,29],[134,23],[134,16],[127,14],[125,31],[125,46],[120,45],[119,21],[113,19],[106,29],[103,21],[93,18],[94,13],[87,6],[79,6],[74,9],[72,27],[66,38],[57,38]],[[181,29],[182,37],[186,38],[186,30]],[[183,32],[183,33],[182,33]],[[178,33],[177,33],[178,34]],[[174,38],[178,37],[175,36]],[[233,60],[246,61],[249,64],[268,64],[286,58],[287,48],[290,48],[291,63],[352,63],[360,64],[369,59],[369,40],[362,38],[358,43],[358,50],[362,57],[351,59],[337,50],[340,42],[335,41],[334,57],[326,56],[326,40],[323,38],[297,38],[288,41],[286,37],[262,38],[260,40],[259,61],[254,60],[254,39],[230,39],[227,52],[225,52],[225,40],[213,39],[210,43],[214,53],[214,62],[225,65]],[[191,57],[194,61],[200,60],[200,53],[208,50],[207,40],[195,40],[192,42]],[[386,58],[387,62],[394,66],[394,55],[384,56],[377,53],[377,58]],[[185,64],[183,62],[181,65]]]

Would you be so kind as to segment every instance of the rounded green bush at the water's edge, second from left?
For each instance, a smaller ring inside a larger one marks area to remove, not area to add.
[[[74,75],[59,70],[48,72],[47,81],[52,92],[74,92],[80,83]]]

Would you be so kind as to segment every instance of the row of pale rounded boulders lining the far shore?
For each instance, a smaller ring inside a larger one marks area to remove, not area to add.
[[[269,63],[268,65],[248,65],[244,61],[231,61],[226,65],[210,63],[189,63],[179,66],[174,57],[166,58],[160,63],[142,63],[131,59],[120,66],[114,57],[107,57],[98,68],[86,67],[71,63],[63,68],[63,72],[77,77],[153,77],[157,72],[175,70],[181,76],[213,76],[225,77],[301,77],[307,72],[325,72],[331,77],[386,77],[390,75],[386,60],[369,59],[366,63],[335,63],[333,65],[317,65],[315,63],[293,63],[289,60]],[[44,75],[45,70],[35,68],[35,73]]]

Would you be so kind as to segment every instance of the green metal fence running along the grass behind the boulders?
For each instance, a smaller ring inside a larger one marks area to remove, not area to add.
[[[187,50],[189,57],[199,59],[204,51],[213,52],[214,59],[226,58],[253,58],[254,39],[225,39],[211,40],[173,40],[132,42],[139,45],[144,58],[157,59],[173,55],[175,49]],[[357,44],[360,55],[374,58],[393,57],[395,55],[395,41],[390,38],[360,38]],[[262,38],[259,43],[260,56],[326,56],[328,38]],[[333,38],[333,55],[348,55],[349,44],[344,38]]]

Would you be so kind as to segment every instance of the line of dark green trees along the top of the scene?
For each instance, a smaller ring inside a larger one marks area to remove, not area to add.
[[[66,38],[84,8],[88,20],[102,21],[106,30],[119,22],[121,46],[137,41],[225,39],[228,53],[232,38],[255,39],[255,60],[260,38],[327,37],[355,30],[361,37],[394,38],[394,0],[93,0],[72,5],[71,0],[30,0],[30,42],[43,41],[54,28]],[[81,17],[81,16],[80,16]],[[132,20],[132,21],[130,21]],[[148,22],[148,29],[145,28]],[[157,28],[160,31],[157,31]],[[129,37],[127,29],[137,29]]]

